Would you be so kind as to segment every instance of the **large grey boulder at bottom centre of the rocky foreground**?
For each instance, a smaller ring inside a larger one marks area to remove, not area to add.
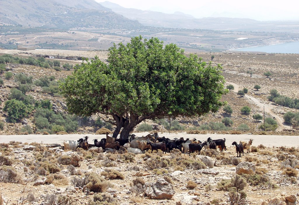
[[[159,178],[156,183],[146,183],[144,194],[152,199],[171,199],[174,195],[173,185]]]

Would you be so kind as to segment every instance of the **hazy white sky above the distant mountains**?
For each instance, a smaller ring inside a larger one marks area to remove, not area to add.
[[[96,0],[103,2],[104,0]],[[232,17],[267,20],[299,20],[298,0],[109,0],[126,8],[174,13],[181,11],[196,18]]]

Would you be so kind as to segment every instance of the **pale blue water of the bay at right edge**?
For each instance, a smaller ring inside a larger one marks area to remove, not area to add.
[[[236,49],[235,51],[255,51],[255,52],[267,52],[267,53],[298,53],[299,54],[299,42],[289,42],[289,43],[276,44],[271,46],[241,48],[241,49]]]

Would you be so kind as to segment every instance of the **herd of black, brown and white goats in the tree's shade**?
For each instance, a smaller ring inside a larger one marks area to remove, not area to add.
[[[162,153],[170,152],[173,149],[178,149],[182,153],[193,153],[195,151],[200,152],[204,147],[206,149],[217,149],[219,148],[222,152],[224,149],[226,151],[225,146],[225,138],[224,139],[216,139],[212,140],[212,138],[208,138],[204,142],[200,140],[196,140],[195,138],[190,140],[189,138],[184,139],[169,139],[163,137],[159,137],[158,133],[148,134],[147,136],[136,137],[135,134],[129,135],[127,139],[116,139],[114,137],[110,137],[106,133],[106,138],[98,141],[94,139],[94,145],[88,143],[88,136],[85,139],[81,138],[78,141],[76,140],[65,140],[63,142],[65,150],[74,150],[78,147],[83,148],[84,150],[88,150],[90,147],[102,147],[103,151],[113,151],[119,150],[120,148],[126,149],[130,153],[141,154],[144,150],[151,149],[153,150],[162,150]],[[244,149],[247,150],[247,153],[250,152],[250,148],[252,145],[253,139],[248,141],[240,141],[239,144],[237,142],[233,142],[232,145],[236,146],[237,157],[241,157],[241,153],[244,156]]]

